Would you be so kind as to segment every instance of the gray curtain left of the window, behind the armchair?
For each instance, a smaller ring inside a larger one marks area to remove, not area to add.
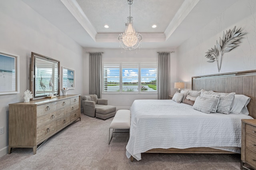
[[[102,53],[90,53],[89,55],[89,92],[101,98],[101,58]]]

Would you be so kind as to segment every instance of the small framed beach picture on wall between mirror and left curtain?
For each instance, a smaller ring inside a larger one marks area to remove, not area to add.
[[[75,71],[62,67],[62,88],[75,88]]]

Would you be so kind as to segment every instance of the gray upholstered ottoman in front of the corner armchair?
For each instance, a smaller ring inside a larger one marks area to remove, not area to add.
[[[111,105],[105,105],[96,108],[96,118],[106,120],[116,115],[116,107]]]

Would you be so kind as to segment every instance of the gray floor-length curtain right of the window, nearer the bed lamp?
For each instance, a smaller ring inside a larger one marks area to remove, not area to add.
[[[158,99],[169,99],[170,52],[158,53]]]

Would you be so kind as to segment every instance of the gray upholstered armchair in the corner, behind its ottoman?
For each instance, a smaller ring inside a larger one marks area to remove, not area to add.
[[[95,117],[96,109],[108,105],[108,99],[98,99],[97,95],[87,95],[82,99],[84,115]]]

